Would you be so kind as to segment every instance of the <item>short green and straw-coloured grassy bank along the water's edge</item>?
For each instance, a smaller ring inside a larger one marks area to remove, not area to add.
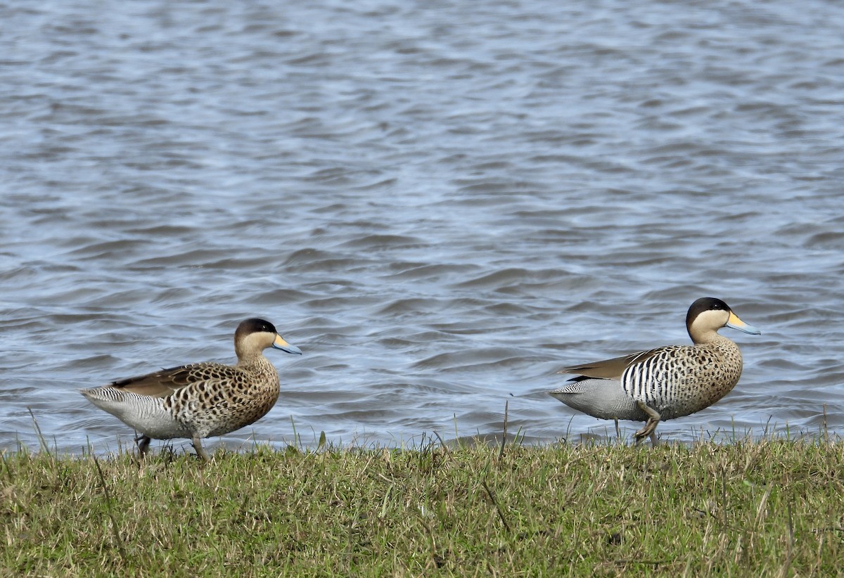
[[[844,447],[6,454],[0,575],[836,575]]]

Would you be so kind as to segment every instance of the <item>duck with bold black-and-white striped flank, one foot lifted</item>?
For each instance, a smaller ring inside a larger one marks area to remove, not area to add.
[[[738,383],[742,358],[738,345],[718,334],[732,327],[759,335],[738,319],[722,300],[702,297],[686,315],[686,329],[694,345],[673,345],[635,354],[572,365],[560,373],[577,374],[552,396],[600,419],[644,421],[636,443],[654,431],[662,419],[674,419],[708,408]]]

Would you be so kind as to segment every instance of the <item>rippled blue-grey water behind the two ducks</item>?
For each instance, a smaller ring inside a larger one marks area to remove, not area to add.
[[[660,425],[844,432],[844,7],[143,2],[0,7],[0,448],[111,451],[82,386],[305,352],[224,440],[614,435],[563,365],[687,343],[744,375]],[[623,423],[629,435],[640,424]],[[181,447],[182,442],[176,442]]]

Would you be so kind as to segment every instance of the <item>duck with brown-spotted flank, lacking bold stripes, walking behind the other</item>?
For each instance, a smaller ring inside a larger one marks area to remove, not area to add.
[[[141,433],[141,456],[152,438],[189,438],[197,454],[208,462],[203,438],[252,424],[279,399],[279,373],[263,356],[268,347],[302,353],[284,341],[272,323],[247,319],[235,331],[236,365],[182,365],[80,392]]]

